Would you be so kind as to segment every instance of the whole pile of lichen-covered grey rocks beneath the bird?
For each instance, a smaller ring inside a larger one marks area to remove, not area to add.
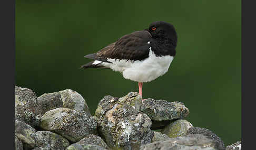
[[[181,102],[146,99],[137,92],[100,100],[94,116],[76,91],[40,97],[15,86],[15,149],[218,149],[220,137],[184,120]],[[153,131],[156,129],[161,129]],[[227,150],[241,149],[241,142]]]

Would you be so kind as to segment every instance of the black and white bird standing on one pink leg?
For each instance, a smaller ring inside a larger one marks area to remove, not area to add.
[[[100,51],[84,56],[93,59],[81,68],[110,68],[125,79],[142,85],[165,74],[176,54],[177,34],[173,25],[153,22],[148,29],[134,31]]]

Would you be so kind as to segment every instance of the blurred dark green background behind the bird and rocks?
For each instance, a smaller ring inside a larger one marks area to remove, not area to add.
[[[16,1],[16,85],[37,97],[64,89],[80,93],[92,114],[105,96],[138,85],[107,69],[78,68],[117,38],[164,20],[178,33],[169,71],[143,84],[143,97],[183,102],[194,126],[226,145],[241,140],[241,2]]]

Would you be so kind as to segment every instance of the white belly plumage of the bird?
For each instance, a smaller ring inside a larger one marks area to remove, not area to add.
[[[150,82],[165,74],[173,60],[172,56],[156,57],[150,50],[149,58],[145,60],[128,60],[107,59],[112,63],[103,62],[102,65],[110,67],[114,71],[119,71],[125,79],[136,82]]]

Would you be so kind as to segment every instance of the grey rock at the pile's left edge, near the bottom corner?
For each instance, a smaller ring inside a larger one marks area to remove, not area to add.
[[[15,135],[21,140],[24,149],[32,149],[35,147],[35,140],[32,138],[32,134],[36,130],[23,121],[15,120]]]

